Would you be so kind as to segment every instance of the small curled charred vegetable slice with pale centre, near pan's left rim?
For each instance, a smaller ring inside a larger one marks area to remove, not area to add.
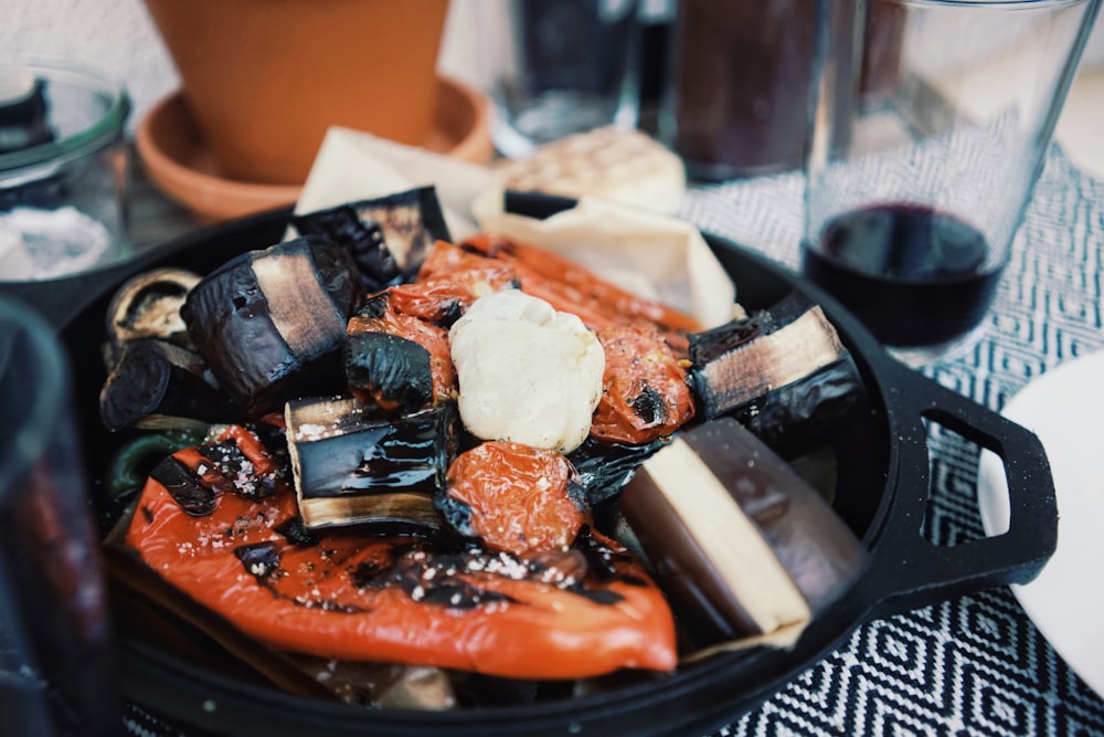
[[[118,360],[123,345],[135,338],[161,338],[193,348],[180,307],[199,281],[199,274],[184,269],[155,269],[124,282],[107,307],[108,369]]]

